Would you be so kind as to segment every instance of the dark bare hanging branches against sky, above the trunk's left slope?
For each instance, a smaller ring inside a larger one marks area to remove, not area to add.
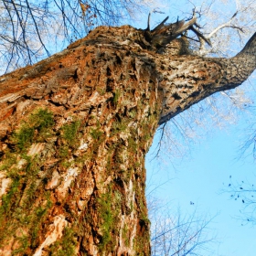
[[[31,65],[85,37],[94,27],[117,26],[144,1],[27,1],[0,3],[1,72]],[[54,36],[53,36],[54,35]]]

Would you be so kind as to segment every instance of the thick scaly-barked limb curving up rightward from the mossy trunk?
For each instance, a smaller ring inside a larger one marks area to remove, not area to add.
[[[233,89],[247,80],[256,69],[256,33],[231,59],[184,57],[170,61],[159,57],[156,63],[160,69],[165,67],[161,125],[211,94]]]

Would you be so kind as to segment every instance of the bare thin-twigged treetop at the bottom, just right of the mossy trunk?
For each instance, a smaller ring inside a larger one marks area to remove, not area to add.
[[[209,223],[214,218],[199,216],[197,209],[184,214],[171,203],[163,203],[151,193],[147,194],[148,215],[151,220],[152,255],[212,255],[210,250],[217,242]],[[191,204],[193,204],[191,202]]]

